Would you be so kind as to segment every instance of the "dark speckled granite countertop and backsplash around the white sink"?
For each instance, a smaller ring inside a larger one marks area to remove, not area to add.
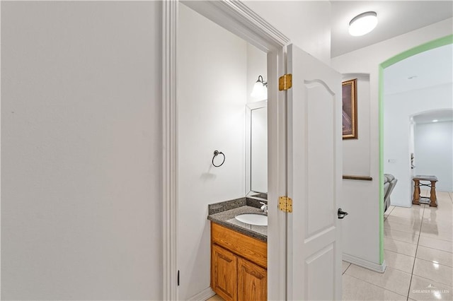
[[[268,242],[268,226],[250,225],[242,223],[234,218],[244,213],[258,213],[265,214],[260,209],[261,200],[251,198],[234,199],[231,201],[223,201],[220,203],[213,203],[209,205],[209,216],[208,220],[213,223],[223,225],[225,228],[229,228],[236,232],[242,233],[254,237],[263,242]],[[267,203],[266,201],[263,201]]]

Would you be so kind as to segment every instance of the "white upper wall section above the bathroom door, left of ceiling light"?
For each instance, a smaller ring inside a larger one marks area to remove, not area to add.
[[[244,1],[294,45],[331,64],[330,1]]]

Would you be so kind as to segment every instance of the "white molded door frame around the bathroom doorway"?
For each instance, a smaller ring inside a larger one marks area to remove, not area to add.
[[[162,235],[163,298],[178,300],[178,0],[162,2]],[[240,1],[183,1],[202,16],[268,54],[268,299],[287,299],[286,93],[278,77],[286,71],[289,39]]]

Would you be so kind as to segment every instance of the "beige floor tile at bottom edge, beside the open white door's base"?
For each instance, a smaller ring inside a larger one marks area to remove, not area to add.
[[[407,292],[406,292],[407,295]],[[406,300],[403,295],[398,295],[379,288],[377,285],[367,283],[352,276],[343,276],[343,300]]]

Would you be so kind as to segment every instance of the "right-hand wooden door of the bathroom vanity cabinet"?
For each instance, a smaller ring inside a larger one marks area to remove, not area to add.
[[[268,271],[238,258],[238,301],[268,300]]]

